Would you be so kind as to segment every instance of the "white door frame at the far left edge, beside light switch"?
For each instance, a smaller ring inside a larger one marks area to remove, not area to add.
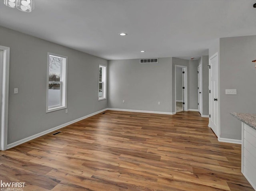
[[[2,56],[2,104],[1,109],[1,124],[0,124],[0,150],[7,149],[7,138],[8,138],[8,98],[9,98],[9,66],[10,66],[10,47],[0,45],[0,50],[3,53]]]

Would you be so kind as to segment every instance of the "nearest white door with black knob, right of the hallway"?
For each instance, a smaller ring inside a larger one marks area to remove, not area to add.
[[[209,127],[218,136],[218,55],[210,57],[209,61]]]

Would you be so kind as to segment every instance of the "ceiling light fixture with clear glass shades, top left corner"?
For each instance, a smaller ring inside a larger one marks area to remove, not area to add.
[[[31,12],[34,9],[34,2],[32,3],[32,0],[4,0],[4,4],[23,12]]]

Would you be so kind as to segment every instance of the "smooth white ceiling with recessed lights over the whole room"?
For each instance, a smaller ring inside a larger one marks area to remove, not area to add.
[[[25,13],[0,0],[0,25],[105,59],[199,57],[216,38],[256,35],[256,0],[34,2]]]

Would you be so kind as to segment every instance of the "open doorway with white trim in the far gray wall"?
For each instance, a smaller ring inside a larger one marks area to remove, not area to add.
[[[187,111],[187,67],[175,65],[175,112]]]

